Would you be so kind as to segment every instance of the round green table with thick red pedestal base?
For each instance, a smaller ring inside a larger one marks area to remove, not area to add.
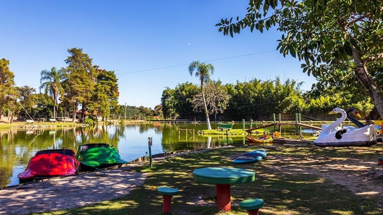
[[[255,173],[247,169],[228,167],[209,167],[195,169],[193,178],[196,181],[215,184],[218,210],[231,210],[231,184],[242,184],[255,181]]]

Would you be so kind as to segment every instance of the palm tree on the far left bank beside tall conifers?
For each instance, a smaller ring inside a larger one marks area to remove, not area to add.
[[[64,95],[64,88],[62,82],[66,78],[66,73],[63,69],[57,70],[56,67],[52,67],[51,70],[43,70],[40,73],[40,87],[41,92],[44,89],[45,94],[49,94],[53,102],[53,118],[56,118],[56,105],[59,96]]]

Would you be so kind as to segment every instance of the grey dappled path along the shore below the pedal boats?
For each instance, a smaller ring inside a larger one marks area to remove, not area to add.
[[[130,167],[56,178],[0,190],[0,214],[63,210],[95,204],[129,194],[147,175]]]

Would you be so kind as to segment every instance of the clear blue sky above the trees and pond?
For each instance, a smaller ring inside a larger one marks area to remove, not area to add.
[[[115,70],[119,102],[154,107],[162,90],[190,77],[187,65],[136,73],[192,60],[211,60],[275,50],[281,33],[218,33],[221,18],[246,13],[248,0],[8,1],[0,0],[0,58],[10,60],[16,85],[38,88],[41,70],[64,67],[67,49],[82,48],[95,65]],[[278,51],[210,62],[213,79],[236,83],[280,76],[304,81],[300,62]]]

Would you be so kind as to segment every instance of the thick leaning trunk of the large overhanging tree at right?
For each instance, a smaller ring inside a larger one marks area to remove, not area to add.
[[[352,56],[355,61],[355,76],[358,78],[358,81],[367,91],[368,95],[372,99],[372,102],[375,104],[376,109],[378,110],[380,116],[383,116],[383,95],[379,91],[378,86],[376,86],[375,81],[372,80],[370,73],[366,65],[364,64],[358,50],[351,46]]]

